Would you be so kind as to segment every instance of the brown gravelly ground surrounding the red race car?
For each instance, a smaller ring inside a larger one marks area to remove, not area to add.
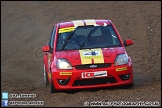
[[[106,88],[51,94],[44,85],[43,53],[54,23],[110,19],[128,46],[133,88]],[[36,94],[47,107],[84,106],[84,102],[159,102],[161,106],[161,1],[2,1],[1,92]],[[36,106],[36,105],[35,105]]]

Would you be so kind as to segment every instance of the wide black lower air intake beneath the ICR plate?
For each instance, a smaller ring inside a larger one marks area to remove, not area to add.
[[[75,80],[73,86],[87,86],[87,85],[98,85],[98,84],[109,84],[109,83],[116,83],[114,77],[109,78],[92,78],[92,79],[82,79],[82,80]]]

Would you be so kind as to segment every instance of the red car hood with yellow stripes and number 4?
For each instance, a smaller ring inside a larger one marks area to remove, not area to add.
[[[67,59],[72,66],[97,63],[114,63],[118,54],[125,53],[123,47],[68,50],[56,52],[56,58]]]

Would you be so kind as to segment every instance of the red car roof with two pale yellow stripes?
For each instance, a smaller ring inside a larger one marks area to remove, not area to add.
[[[84,20],[70,20],[59,22],[60,28],[75,27],[75,26],[89,26],[89,25],[110,25],[110,20],[106,19],[84,19]]]

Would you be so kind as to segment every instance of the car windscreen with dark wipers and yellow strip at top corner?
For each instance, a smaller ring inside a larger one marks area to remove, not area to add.
[[[111,25],[78,26],[59,31],[56,51],[121,46]]]

